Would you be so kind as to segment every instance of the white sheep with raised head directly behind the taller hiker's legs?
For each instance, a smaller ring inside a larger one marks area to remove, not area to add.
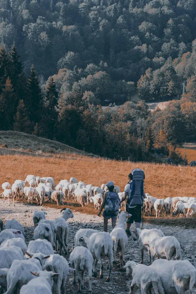
[[[123,255],[128,246],[128,237],[124,231],[124,223],[130,218],[126,211],[122,211],[119,213],[119,222],[111,231],[110,236],[112,237],[114,243],[114,262],[116,262],[116,254],[120,252],[120,263],[121,268],[123,268]]]

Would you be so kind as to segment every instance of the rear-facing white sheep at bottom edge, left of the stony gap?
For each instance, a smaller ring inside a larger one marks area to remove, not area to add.
[[[47,259],[44,265],[44,270],[59,273],[52,286],[52,292],[55,294],[61,294],[61,291],[62,293],[66,293],[65,285],[69,274],[69,265],[67,260],[59,254],[52,254]]]

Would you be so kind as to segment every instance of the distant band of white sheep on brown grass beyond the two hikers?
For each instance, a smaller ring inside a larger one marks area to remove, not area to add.
[[[2,184],[1,193],[3,201],[8,198],[10,205],[10,198],[16,197],[19,200],[20,196],[27,199],[27,203],[33,203],[33,198],[36,199],[40,205],[44,202],[56,202],[57,206],[63,204],[63,201],[69,198],[74,199],[82,207],[89,202],[94,202],[94,207],[100,209],[103,201],[103,194],[107,191],[106,184],[102,184],[101,187],[93,186],[91,184],[86,185],[84,182],[78,182],[76,178],[71,177],[70,180],[61,180],[57,185],[54,183],[52,177],[35,177],[34,175],[27,175],[25,181],[16,180],[11,186],[10,183],[5,182]],[[123,193],[120,192],[119,186],[115,186],[116,191],[122,199]],[[15,204],[14,204],[15,205]],[[125,209],[125,202],[121,204],[121,209]],[[166,215],[172,213],[172,216],[178,216],[182,214],[186,217],[192,217],[196,214],[196,197],[167,197],[166,199],[158,199],[146,194],[144,202],[145,213],[149,216],[152,215],[152,210],[156,212],[156,217],[160,216],[160,213],[165,210]],[[173,209],[173,212],[172,212]]]

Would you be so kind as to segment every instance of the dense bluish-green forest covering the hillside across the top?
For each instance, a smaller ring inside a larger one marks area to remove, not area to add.
[[[179,98],[196,75],[195,27],[196,0],[0,0],[0,41],[15,41],[25,73],[34,64],[44,85],[60,70],[60,94],[79,88],[102,105],[136,89]]]

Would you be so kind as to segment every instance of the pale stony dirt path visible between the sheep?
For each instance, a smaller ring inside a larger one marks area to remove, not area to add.
[[[47,219],[54,220],[60,217],[60,210],[54,208],[43,208],[40,206],[30,206],[27,204],[16,203],[16,206],[13,207],[12,204],[8,206],[7,202],[2,202],[0,199],[0,218],[4,221],[15,219],[20,221],[25,227],[25,241],[26,244],[30,240],[33,239],[33,222],[32,216],[35,211],[45,210],[47,212]],[[68,247],[72,247],[73,239],[75,232],[80,228],[94,228],[100,231],[103,230],[103,219],[98,216],[81,214],[79,212],[74,212],[74,218],[68,220],[69,223],[69,239],[68,239]],[[153,228],[152,224],[145,224],[145,228]],[[172,226],[163,226],[156,225],[156,228],[160,228],[166,236],[175,236],[181,244],[182,248],[182,258],[187,258],[194,266],[196,266],[196,229],[183,229],[180,227],[172,227]],[[109,225],[109,232],[111,231],[111,225]],[[69,256],[65,256],[67,260],[69,260]],[[132,237],[129,237],[129,245],[126,250],[126,254],[124,256],[124,261],[134,260],[135,262],[139,262],[141,258],[140,249],[138,246],[138,242],[134,242]],[[104,261],[104,279],[99,280],[98,278],[93,278],[93,292],[94,294],[127,294],[128,293],[128,284],[130,280],[127,279],[126,273],[120,271],[119,263],[113,266],[113,271],[111,275],[111,282],[106,283],[106,262]],[[145,254],[144,264],[149,264],[149,258],[147,253]],[[67,281],[67,294],[75,294],[77,293],[77,286],[72,285],[73,282],[73,273],[69,275]],[[85,279],[85,289],[82,291],[83,294],[88,293],[88,283]],[[140,293],[139,290],[136,291],[137,294]],[[196,292],[194,292],[196,293]]]

